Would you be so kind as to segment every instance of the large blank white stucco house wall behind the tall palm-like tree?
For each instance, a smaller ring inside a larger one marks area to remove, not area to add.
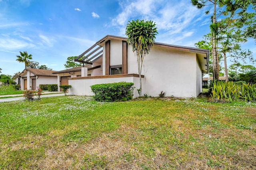
[[[128,46],[128,73],[138,74],[137,57]],[[145,56],[142,75],[145,76],[143,93],[158,96],[196,97],[196,54],[153,46]]]

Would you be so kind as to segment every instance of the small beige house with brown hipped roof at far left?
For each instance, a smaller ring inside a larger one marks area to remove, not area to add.
[[[24,69],[20,77],[20,89],[33,89],[39,88],[40,84],[57,84],[57,75],[52,74],[53,70],[44,69]]]

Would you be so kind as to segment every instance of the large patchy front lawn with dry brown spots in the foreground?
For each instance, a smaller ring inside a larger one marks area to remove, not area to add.
[[[256,103],[0,103],[0,169],[256,169]]]

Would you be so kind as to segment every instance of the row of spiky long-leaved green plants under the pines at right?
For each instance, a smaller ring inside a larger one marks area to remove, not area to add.
[[[214,81],[211,91],[211,97],[217,100],[256,101],[256,84]]]

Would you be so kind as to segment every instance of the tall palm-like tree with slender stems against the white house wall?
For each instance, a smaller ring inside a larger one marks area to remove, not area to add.
[[[150,52],[150,49],[156,39],[157,28],[153,21],[144,20],[132,20],[126,26],[126,36],[128,36],[127,43],[132,46],[132,51],[136,51],[138,72],[140,77],[140,89],[139,95],[142,96],[142,82],[141,82],[141,70],[143,59],[146,54]]]

